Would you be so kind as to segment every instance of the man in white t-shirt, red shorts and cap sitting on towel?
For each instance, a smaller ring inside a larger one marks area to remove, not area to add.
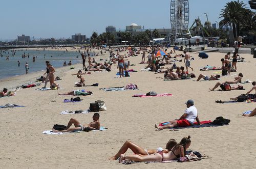
[[[185,110],[185,113],[180,117],[180,119],[170,121],[168,124],[164,126],[155,125],[157,130],[162,130],[171,127],[193,126],[195,120],[200,125],[200,121],[197,116],[197,108],[194,106],[194,101],[189,99],[185,104],[187,105],[187,109]]]

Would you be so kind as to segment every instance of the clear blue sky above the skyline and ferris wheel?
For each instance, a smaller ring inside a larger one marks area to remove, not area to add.
[[[189,25],[199,16],[206,21],[220,21],[219,14],[227,0],[189,0]],[[244,1],[250,8],[248,1]],[[170,28],[170,0],[8,0],[1,1],[0,40],[17,35],[33,38],[69,38],[75,33],[90,37],[108,25],[117,30],[137,23],[145,29]]]

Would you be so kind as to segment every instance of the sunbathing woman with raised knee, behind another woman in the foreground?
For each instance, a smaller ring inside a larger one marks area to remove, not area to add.
[[[168,153],[172,150],[172,148],[177,145],[177,142],[175,139],[169,139],[168,143],[166,144],[166,148],[162,151],[163,153]],[[120,150],[114,155],[113,157],[110,157],[109,160],[116,160],[118,157],[120,157],[121,154],[124,154],[128,149],[131,149],[134,154],[138,154],[140,156],[143,155],[150,155],[157,152],[156,149],[143,149],[139,147],[138,145],[134,144],[133,142],[126,141],[123,146],[120,148]]]

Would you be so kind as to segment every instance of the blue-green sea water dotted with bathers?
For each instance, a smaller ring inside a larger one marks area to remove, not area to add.
[[[81,55],[77,51],[64,51],[64,49],[59,51],[53,51],[45,49],[43,50],[26,50],[26,49],[19,49],[14,50],[15,55],[12,57],[13,50],[2,50],[2,53],[0,51],[0,79],[11,77],[11,76],[17,76],[26,74],[25,70],[25,64],[26,62],[29,64],[29,73],[41,71],[46,71],[46,64],[45,61],[50,61],[50,64],[54,67],[62,67],[63,63],[66,61],[67,64],[69,61],[72,62],[72,64],[76,64],[81,62]],[[9,53],[8,53],[9,52]],[[28,55],[29,58],[22,58],[22,54]],[[1,54],[3,54],[3,57],[1,57]],[[6,60],[6,57],[9,55],[9,61]],[[37,56],[35,59],[35,62],[33,62],[33,55]],[[78,58],[77,58],[78,55]],[[20,66],[18,67],[18,61],[20,62]]]

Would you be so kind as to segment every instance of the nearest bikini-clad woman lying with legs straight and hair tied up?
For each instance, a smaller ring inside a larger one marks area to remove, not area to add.
[[[151,155],[140,156],[138,154],[125,155],[121,154],[119,162],[122,160],[129,159],[134,161],[167,161],[167,160],[176,160],[180,157],[185,157],[186,150],[191,144],[190,136],[184,137],[181,139],[180,143],[173,147],[168,153],[158,151]]]

